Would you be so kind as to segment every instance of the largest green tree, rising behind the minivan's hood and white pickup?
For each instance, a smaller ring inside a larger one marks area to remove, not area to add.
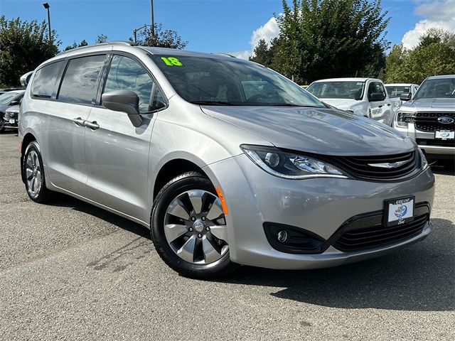
[[[282,0],[272,67],[296,82],[375,76],[385,63],[389,18],[380,0]]]

